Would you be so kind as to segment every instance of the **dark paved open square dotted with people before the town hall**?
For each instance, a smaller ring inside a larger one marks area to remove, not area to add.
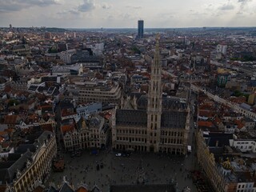
[[[96,185],[102,191],[109,191],[110,183],[135,184],[138,177],[138,166],[142,162],[146,183],[162,184],[177,180],[178,189],[196,188],[190,177],[190,170],[194,170],[194,154],[177,156],[167,154],[130,154],[130,157],[116,157],[117,152],[102,150],[98,155],[84,151],[81,157],[71,158],[70,154],[63,154],[66,169],[61,173],[50,174],[48,182],[55,186],[62,183],[63,176],[72,186],[85,182],[88,186]]]

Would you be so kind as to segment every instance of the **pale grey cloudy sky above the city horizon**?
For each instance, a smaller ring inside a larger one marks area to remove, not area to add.
[[[0,0],[0,26],[256,26],[256,0]]]

